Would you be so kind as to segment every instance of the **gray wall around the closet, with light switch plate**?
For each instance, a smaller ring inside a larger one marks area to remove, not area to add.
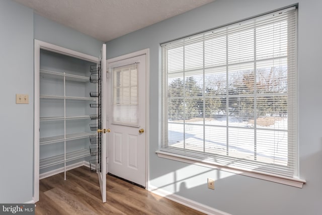
[[[0,1],[0,29],[0,202],[24,203],[33,196],[34,38],[97,57],[103,42],[11,0]],[[17,105],[16,94],[29,104]]]

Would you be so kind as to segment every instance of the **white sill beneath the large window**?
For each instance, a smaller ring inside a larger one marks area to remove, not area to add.
[[[168,152],[156,151],[155,153],[159,158],[166,158],[174,161],[181,161],[188,164],[199,165],[203,167],[222,170],[222,171],[231,172],[239,175],[245,175],[253,178],[259,178],[259,179],[272,181],[280,184],[286,184],[289,186],[294,186],[299,188],[302,188],[303,184],[306,183],[305,180],[302,180],[299,178],[289,178],[281,175],[263,173],[258,171],[249,171],[249,170],[242,170],[242,169],[231,168],[231,167],[224,167],[214,162],[209,162],[209,161],[205,162],[201,159],[190,158],[188,156],[182,156],[182,155],[177,155],[177,154],[168,153]]]

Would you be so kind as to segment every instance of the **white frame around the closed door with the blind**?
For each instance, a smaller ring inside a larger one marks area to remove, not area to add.
[[[145,54],[145,59],[146,59],[146,83],[145,83],[145,189],[148,190],[148,181],[149,181],[149,90],[150,90],[150,56],[149,56],[149,49],[143,49],[140,51],[135,51],[129,54],[121,55],[118,57],[114,57],[111,59],[106,60],[106,68],[109,68],[109,63],[144,55]],[[108,150],[108,147],[106,148]],[[108,152],[106,152],[106,155],[108,155]],[[108,159],[107,159],[108,160]],[[108,172],[108,165],[107,165],[107,172]]]

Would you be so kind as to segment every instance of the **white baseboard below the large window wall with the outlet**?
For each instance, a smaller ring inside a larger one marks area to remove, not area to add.
[[[171,193],[171,192],[163,190],[163,189],[159,189],[159,188],[151,186],[151,185],[148,186],[148,190],[154,194],[157,194],[159,196],[163,196],[163,197],[168,198],[172,201],[178,202],[180,204],[183,204],[187,207],[193,208],[195,210],[198,210],[198,211],[206,213],[206,214],[231,215],[230,213],[226,213],[224,211],[215,209],[213,207],[209,207],[209,206],[201,204],[197,201],[193,201],[191,199],[182,197],[180,195],[177,195],[175,193]]]

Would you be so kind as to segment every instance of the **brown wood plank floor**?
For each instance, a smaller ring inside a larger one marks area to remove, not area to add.
[[[102,203],[96,173],[87,167],[40,180],[35,214],[204,214],[107,175],[107,202]]]

